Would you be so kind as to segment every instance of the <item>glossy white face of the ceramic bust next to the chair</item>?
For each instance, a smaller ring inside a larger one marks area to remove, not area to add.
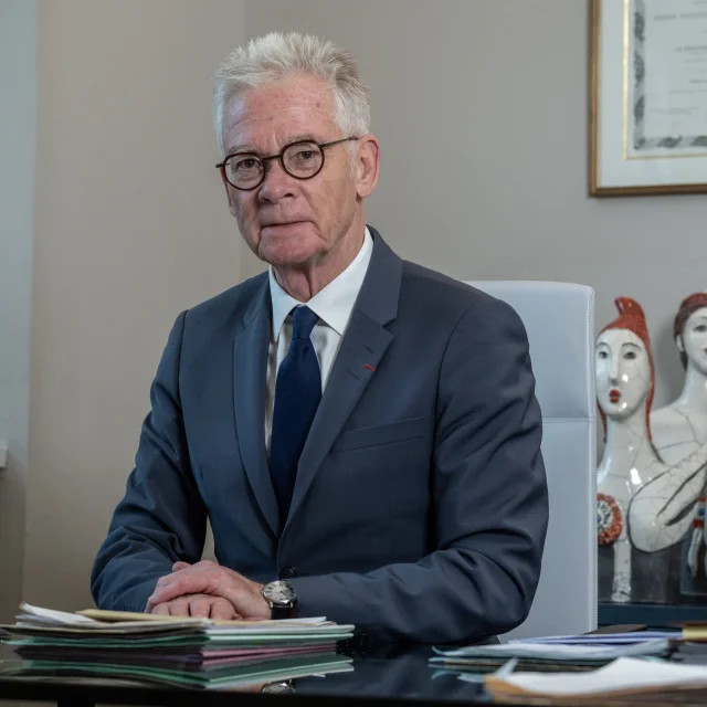
[[[707,355],[706,355],[707,356]],[[643,341],[629,329],[608,329],[597,339],[597,400],[612,420],[626,420],[651,389],[651,361]]]

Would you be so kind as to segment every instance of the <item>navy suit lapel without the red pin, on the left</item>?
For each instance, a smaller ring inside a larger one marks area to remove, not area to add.
[[[277,537],[279,511],[265,450],[265,386],[271,335],[267,278],[244,317],[233,342],[233,400],[241,458],[258,506]]]

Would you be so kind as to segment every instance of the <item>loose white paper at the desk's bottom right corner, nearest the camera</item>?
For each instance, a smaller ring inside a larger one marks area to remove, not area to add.
[[[463,678],[462,678],[463,679]],[[495,699],[517,697],[610,697],[666,689],[707,687],[707,667],[664,661],[619,658],[585,673],[511,673],[488,675],[486,690]]]

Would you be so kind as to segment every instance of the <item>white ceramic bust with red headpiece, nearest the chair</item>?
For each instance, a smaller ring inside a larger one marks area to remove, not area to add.
[[[705,483],[707,450],[676,465],[657,456],[648,413],[655,370],[639,303],[616,299],[620,316],[597,339],[597,398],[606,444],[597,474],[599,597],[614,602],[679,600],[679,542]]]

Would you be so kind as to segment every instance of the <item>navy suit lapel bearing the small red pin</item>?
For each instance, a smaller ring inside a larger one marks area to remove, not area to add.
[[[398,314],[402,261],[371,229],[373,253],[341,339],[326,390],[299,457],[286,532],[331,445],[341,432],[394,336],[384,328]]]

